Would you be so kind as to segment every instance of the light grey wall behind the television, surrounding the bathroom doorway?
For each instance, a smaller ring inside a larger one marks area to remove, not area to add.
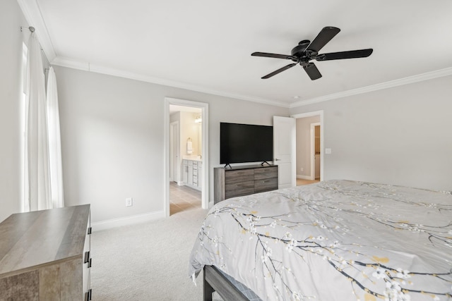
[[[165,97],[209,104],[210,199],[220,162],[220,121],[271,125],[289,109],[55,67],[67,205],[91,204],[92,221],[164,209]],[[238,109],[239,108],[239,109]],[[133,197],[133,207],[125,207]]]

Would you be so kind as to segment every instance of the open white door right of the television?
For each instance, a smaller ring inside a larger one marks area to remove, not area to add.
[[[294,187],[295,118],[273,116],[273,164],[278,165],[278,188]]]

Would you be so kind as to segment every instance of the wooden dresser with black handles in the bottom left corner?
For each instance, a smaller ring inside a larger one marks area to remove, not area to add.
[[[0,300],[91,300],[90,205],[0,223]]]

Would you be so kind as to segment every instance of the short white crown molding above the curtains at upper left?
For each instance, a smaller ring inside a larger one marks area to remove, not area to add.
[[[25,20],[27,20],[28,25],[35,27],[35,35],[40,41],[42,50],[45,56],[47,56],[47,61],[52,63],[52,61],[57,57],[55,54],[52,40],[49,37],[49,32],[47,31],[47,26],[42,18],[40,7],[37,5],[35,0],[17,0],[20,10],[22,10]]]

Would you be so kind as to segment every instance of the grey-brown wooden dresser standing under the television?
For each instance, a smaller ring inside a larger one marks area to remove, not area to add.
[[[234,166],[213,169],[214,204],[242,195],[278,189],[278,166]]]

